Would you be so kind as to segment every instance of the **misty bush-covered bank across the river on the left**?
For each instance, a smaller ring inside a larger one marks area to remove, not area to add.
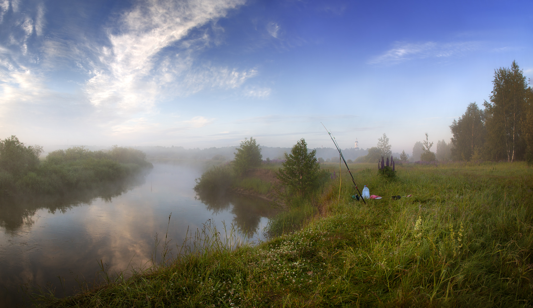
[[[33,166],[15,171],[0,168],[0,196],[95,189],[150,167],[146,155],[134,149],[114,147],[110,151],[89,151],[75,147],[57,150]]]

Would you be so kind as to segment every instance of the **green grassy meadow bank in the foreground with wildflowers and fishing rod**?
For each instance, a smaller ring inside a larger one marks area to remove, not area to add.
[[[352,166],[301,230],[236,247],[205,226],[187,254],[43,307],[319,307],[533,304],[533,171],[524,163]],[[339,193],[340,191],[340,193]],[[406,196],[393,200],[391,196]],[[303,206],[303,204],[302,204]],[[222,232],[223,233],[223,232]],[[238,246],[238,245],[237,245]]]

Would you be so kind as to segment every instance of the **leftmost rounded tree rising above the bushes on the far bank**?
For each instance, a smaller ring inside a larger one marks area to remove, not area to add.
[[[39,145],[25,147],[17,136],[0,140],[0,169],[14,176],[26,174],[26,172],[39,165],[39,156],[43,153],[43,147]]]

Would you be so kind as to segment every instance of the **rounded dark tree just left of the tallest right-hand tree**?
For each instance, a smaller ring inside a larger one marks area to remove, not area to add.
[[[479,109],[478,105],[473,102],[466,107],[465,113],[459,119],[451,123],[451,157],[453,160],[470,160],[474,153],[474,148],[481,148],[484,143],[485,114]],[[439,145],[437,144],[437,153]]]

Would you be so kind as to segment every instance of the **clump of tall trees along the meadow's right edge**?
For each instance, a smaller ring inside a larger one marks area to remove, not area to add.
[[[470,103],[450,125],[452,160],[533,162],[533,90],[516,61],[494,71],[484,109]]]

